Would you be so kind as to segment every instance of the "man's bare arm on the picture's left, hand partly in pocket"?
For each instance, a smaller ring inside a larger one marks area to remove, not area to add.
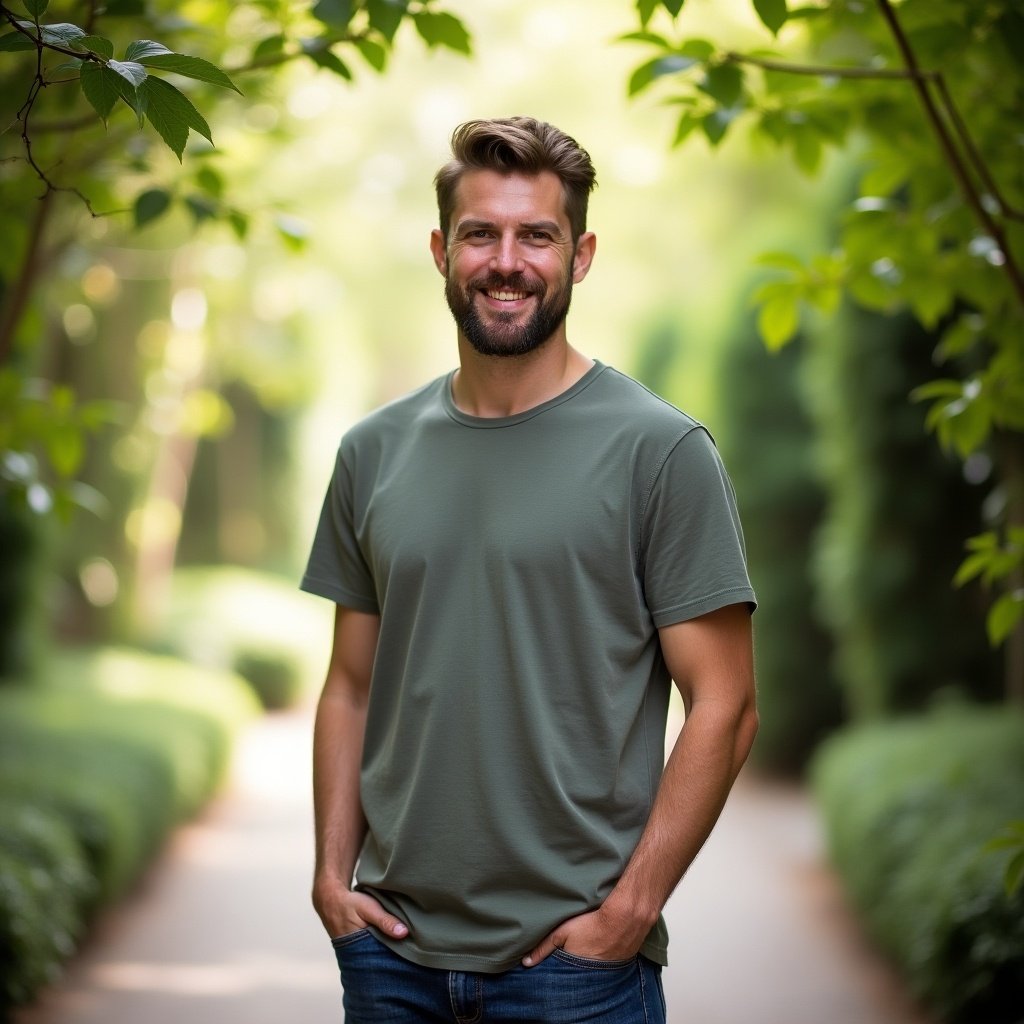
[[[372,896],[351,891],[367,822],[359,764],[380,617],[338,606],[334,646],[313,726],[316,866],[313,906],[332,938],[373,925],[403,938],[409,929]]]

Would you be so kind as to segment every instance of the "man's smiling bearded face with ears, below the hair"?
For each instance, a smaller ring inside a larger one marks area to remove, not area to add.
[[[460,334],[482,355],[512,356],[563,332],[592,240],[572,245],[556,175],[464,174],[446,244],[439,230],[431,237]]]

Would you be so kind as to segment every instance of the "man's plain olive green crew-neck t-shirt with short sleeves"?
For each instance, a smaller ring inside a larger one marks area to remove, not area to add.
[[[671,680],[657,629],[754,605],[708,432],[596,364],[480,419],[452,376],[342,439],[302,588],[381,616],[357,886],[415,963],[505,970],[599,906],[640,838]],[[664,921],[642,952],[666,963]]]

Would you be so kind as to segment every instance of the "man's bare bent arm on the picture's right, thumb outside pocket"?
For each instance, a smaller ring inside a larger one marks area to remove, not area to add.
[[[751,615],[731,604],[659,631],[686,709],[650,818],[622,878],[591,913],[564,922],[524,957],[556,947],[595,959],[640,948],[683,873],[711,835],[757,733]]]

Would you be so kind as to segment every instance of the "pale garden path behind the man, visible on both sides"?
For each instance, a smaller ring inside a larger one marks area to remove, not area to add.
[[[308,907],[308,710],[268,715],[232,782],[16,1024],[342,1020]],[[670,1024],[929,1024],[865,944],[807,796],[744,773],[667,908]]]

